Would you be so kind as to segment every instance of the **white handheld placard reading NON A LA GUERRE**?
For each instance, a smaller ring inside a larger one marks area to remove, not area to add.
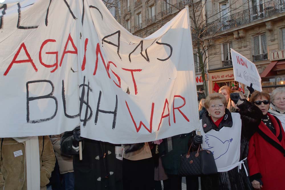
[[[235,81],[247,86],[250,86],[252,83],[253,89],[261,92],[261,78],[255,64],[233,49],[231,49],[231,57],[233,61]]]

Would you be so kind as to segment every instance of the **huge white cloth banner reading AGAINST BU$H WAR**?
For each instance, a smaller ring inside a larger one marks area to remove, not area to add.
[[[1,137],[80,125],[83,137],[120,144],[198,128],[187,9],[147,38],[98,0],[24,0],[0,12]]]

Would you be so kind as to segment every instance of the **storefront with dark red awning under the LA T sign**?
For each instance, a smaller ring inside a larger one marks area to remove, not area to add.
[[[271,52],[270,61],[260,74],[262,90],[268,93],[277,87],[285,87],[285,50]]]

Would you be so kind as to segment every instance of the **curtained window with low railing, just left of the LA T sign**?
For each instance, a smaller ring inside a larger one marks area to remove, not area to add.
[[[253,37],[253,62],[267,60],[267,38],[266,34]]]

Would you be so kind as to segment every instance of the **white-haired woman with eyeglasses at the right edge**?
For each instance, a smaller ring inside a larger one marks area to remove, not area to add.
[[[285,117],[285,87],[279,87],[272,91],[271,103],[268,112],[275,116]],[[278,119],[280,119],[278,117]]]

